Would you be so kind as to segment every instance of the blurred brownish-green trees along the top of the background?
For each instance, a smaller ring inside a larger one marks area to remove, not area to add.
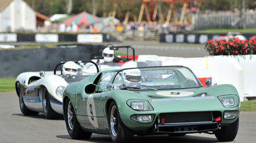
[[[42,13],[44,15],[53,15],[55,13],[67,13],[78,14],[82,11],[88,13],[94,13],[95,15],[102,17],[107,16],[111,11],[116,10],[116,17],[121,21],[127,11],[138,17],[140,13],[140,7],[143,0],[24,0],[34,11]],[[206,10],[211,11],[233,11],[234,8],[242,10],[243,0],[201,0],[200,10],[204,13]],[[245,7],[248,9],[255,9],[255,1],[244,0]],[[70,2],[72,5],[70,5]],[[180,11],[183,3],[176,3],[174,10]],[[70,5],[70,6],[69,6]],[[116,6],[115,6],[116,5]],[[155,5],[154,5],[155,6]],[[70,7],[70,9],[68,9]],[[148,3],[148,7],[151,5]],[[163,15],[167,15],[169,9],[169,3],[161,2],[161,11]],[[153,9],[151,7],[151,13]],[[130,18],[130,20],[132,20]]]

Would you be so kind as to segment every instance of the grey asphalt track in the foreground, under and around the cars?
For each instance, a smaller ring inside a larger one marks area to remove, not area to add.
[[[238,134],[232,142],[255,142],[256,112],[241,112]],[[0,142],[11,143],[66,143],[66,142],[109,142],[107,135],[93,134],[89,140],[72,140],[63,120],[47,120],[40,113],[36,116],[24,116],[19,107],[15,92],[0,93]],[[143,142],[218,142],[212,134],[187,134],[186,136],[140,136],[134,137],[134,143]]]

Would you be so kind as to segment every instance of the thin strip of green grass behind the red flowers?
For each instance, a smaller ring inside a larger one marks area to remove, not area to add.
[[[227,34],[228,32],[241,32],[242,34],[255,34],[256,28],[252,29],[213,29],[213,30],[198,30],[199,34]]]

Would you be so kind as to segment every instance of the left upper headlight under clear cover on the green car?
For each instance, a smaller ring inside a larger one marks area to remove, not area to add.
[[[149,101],[145,100],[128,100],[127,105],[136,111],[153,111],[153,107]]]

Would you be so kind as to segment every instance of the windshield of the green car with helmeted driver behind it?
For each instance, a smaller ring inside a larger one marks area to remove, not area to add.
[[[203,87],[193,72],[184,66],[130,68],[121,70],[113,81],[115,89],[161,90]]]

